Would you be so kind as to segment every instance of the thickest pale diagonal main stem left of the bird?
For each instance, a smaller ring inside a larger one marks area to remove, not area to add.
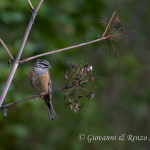
[[[4,89],[3,89],[2,93],[1,93],[1,96],[0,96],[0,106],[2,105],[2,103],[3,103],[4,99],[5,99],[5,96],[6,96],[6,94],[7,94],[7,91],[8,91],[8,89],[9,89],[9,87],[10,87],[10,84],[11,84],[11,82],[12,82],[12,79],[13,79],[13,77],[14,77],[14,74],[15,74],[15,72],[16,72],[16,69],[17,69],[17,67],[18,67],[19,60],[20,60],[20,57],[21,57],[21,54],[22,54],[24,45],[25,45],[25,43],[26,43],[26,41],[27,41],[27,38],[28,38],[28,35],[29,35],[29,33],[30,33],[31,27],[32,27],[32,25],[33,25],[33,23],[34,23],[35,16],[36,16],[37,11],[38,11],[39,7],[41,6],[42,2],[43,2],[43,0],[40,0],[39,3],[37,4],[36,8],[35,8],[35,9],[33,10],[33,12],[32,12],[32,16],[31,16],[31,18],[30,18],[30,21],[29,21],[29,24],[28,24],[28,26],[27,26],[26,32],[25,32],[25,34],[24,34],[24,37],[23,37],[23,40],[22,40],[20,49],[19,49],[19,51],[18,51],[17,57],[16,57],[16,59],[15,59],[13,65],[12,65],[12,68],[11,68],[10,74],[9,74],[9,76],[8,76],[8,79],[7,79],[7,81],[6,81],[5,87],[4,87]]]

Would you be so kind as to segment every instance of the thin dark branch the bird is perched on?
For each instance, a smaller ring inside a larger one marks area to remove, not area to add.
[[[31,99],[34,99],[34,98],[37,98],[37,97],[42,97],[42,96],[45,96],[45,95],[48,95],[48,94],[52,94],[52,93],[56,93],[56,92],[59,92],[59,91],[62,91],[62,90],[66,90],[66,89],[69,89],[69,88],[72,88],[73,86],[70,86],[70,87],[63,87],[63,88],[60,88],[58,90],[55,90],[55,91],[52,91],[52,92],[49,92],[49,93],[41,93],[41,94],[38,94],[38,95],[34,95],[34,96],[31,96],[31,97],[28,97],[28,98],[25,98],[25,99],[21,99],[21,100],[18,100],[18,101],[15,101],[15,102],[12,102],[12,103],[8,103],[6,105],[3,105],[0,107],[0,110],[8,107],[8,106],[11,106],[13,104],[17,104],[17,103],[21,103],[21,102],[25,102],[25,101],[28,101],[28,100],[31,100]]]

